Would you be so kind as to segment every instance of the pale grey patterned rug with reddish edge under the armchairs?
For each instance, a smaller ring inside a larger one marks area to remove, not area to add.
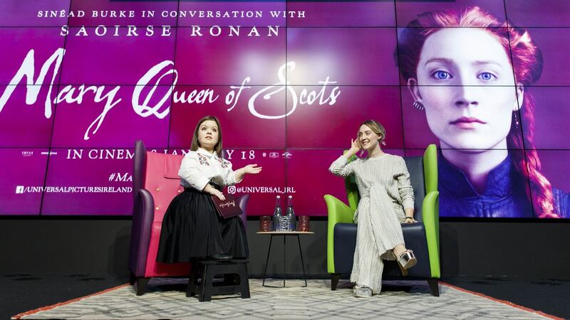
[[[266,284],[282,284],[274,281]],[[268,288],[250,279],[250,299],[217,296],[199,302],[186,297],[187,279],[152,279],[140,297],[125,284],[12,319],[555,319],[448,284],[440,284],[440,297],[433,297],[427,282],[385,282],[388,291],[363,299],[353,297],[348,282],[336,291],[330,280],[308,282],[304,288],[300,280]]]

